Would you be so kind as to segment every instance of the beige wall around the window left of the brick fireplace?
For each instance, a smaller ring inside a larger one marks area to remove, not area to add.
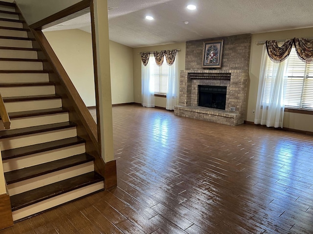
[[[134,48],[133,50],[133,63],[134,63],[134,102],[141,103],[141,58],[140,52],[147,51],[160,51],[160,50],[173,50],[179,49],[178,59],[178,71],[185,70],[185,54],[186,54],[186,43],[173,43],[166,45],[148,46]],[[177,98],[179,100],[179,97]],[[155,98],[155,105],[159,107],[166,107],[166,98]]]

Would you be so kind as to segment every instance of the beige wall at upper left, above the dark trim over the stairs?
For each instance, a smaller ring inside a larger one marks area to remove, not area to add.
[[[30,25],[45,19],[82,0],[15,0]]]

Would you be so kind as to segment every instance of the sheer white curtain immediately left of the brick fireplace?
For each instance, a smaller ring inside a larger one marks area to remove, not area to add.
[[[174,64],[175,63],[175,64]],[[177,58],[168,69],[168,83],[167,83],[167,93],[166,93],[166,110],[174,110],[177,100],[177,71],[176,64]]]

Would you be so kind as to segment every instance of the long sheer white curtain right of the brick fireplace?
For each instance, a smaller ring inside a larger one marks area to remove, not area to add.
[[[284,76],[288,61],[289,59],[280,63],[272,62],[268,58],[266,45],[263,46],[255,124],[275,128],[283,127]]]

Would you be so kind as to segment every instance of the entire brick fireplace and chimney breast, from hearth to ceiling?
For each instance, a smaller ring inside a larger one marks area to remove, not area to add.
[[[202,70],[202,44],[197,40],[186,42],[186,64],[180,72],[179,105],[177,116],[196,118],[226,125],[244,123],[246,114],[246,88],[250,56],[250,34],[224,39],[222,69]],[[213,40],[213,39],[212,39]],[[227,87],[225,110],[198,106],[199,85]]]

